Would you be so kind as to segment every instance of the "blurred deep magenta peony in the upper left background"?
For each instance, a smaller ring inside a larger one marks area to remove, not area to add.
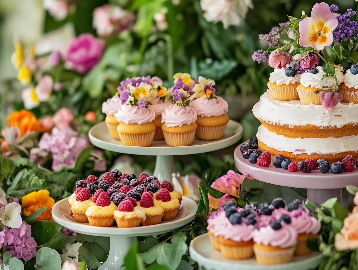
[[[100,61],[105,42],[91,34],[81,34],[67,46],[65,60],[80,74],[86,74]]]

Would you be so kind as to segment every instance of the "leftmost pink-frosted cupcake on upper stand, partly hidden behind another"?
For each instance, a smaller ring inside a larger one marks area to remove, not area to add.
[[[117,95],[114,95],[112,98],[107,99],[107,101],[103,102],[102,104],[102,113],[106,114],[106,125],[108,128],[108,131],[111,134],[111,137],[113,139],[119,140],[117,127],[119,125],[119,122],[115,118],[115,114],[118,112],[118,110],[121,108],[121,99],[118,98]]]

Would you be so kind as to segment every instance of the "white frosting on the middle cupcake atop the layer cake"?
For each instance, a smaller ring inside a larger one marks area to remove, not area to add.
[[[323,90],[333,89],[333,87],[336,85],[336,80],[334,77],[322,78],[323,74],[325,74],[323,68],[321,66],[316,68],[318,69],[318,73],[316,74],[309,72],[302,74],[300,83],[305,87],[318,88]],[[337,71],[337,80],[338,85],[340,85],[343,81],[342,71]]]

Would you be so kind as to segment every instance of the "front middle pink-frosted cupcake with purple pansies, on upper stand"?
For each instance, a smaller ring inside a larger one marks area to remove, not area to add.
[[[197,113],[189,105],[187,92],[175,89],[169,97],[170,104],[161,114],[161,129],[169,146],[187,146],[194,141]]]

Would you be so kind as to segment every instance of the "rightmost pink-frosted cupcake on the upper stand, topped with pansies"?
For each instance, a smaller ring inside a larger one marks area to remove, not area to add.
[[[199,76],[198,83],[193,88],[191,106],[198,114],[198,128],[195,134],[198,139],[222,138],[229,122],[228,104],[223,98],[216,96],[214,85],[214,80]]]

